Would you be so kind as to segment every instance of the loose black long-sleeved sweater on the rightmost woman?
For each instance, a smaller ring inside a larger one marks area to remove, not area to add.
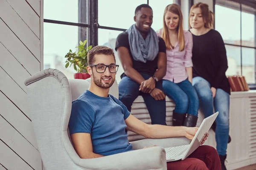
[[[193,35],[193,34],[192,34]],[[204,35],[193,35],[193,77],[203,77],[214,88],[230,94],[226,77],[227,54],[221,34],[211,29]]]

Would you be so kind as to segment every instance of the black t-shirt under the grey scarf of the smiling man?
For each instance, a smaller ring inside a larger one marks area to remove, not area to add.
[[[159,37],[159,52],[164,52],[166,53],[166,45],[165,42],[163,41],[163,39],[161,37]],[[147,61],[147,62],[140,62],[140,61],[136,61],[132,54],[131,54],[131,49],[130,49],[130,45],[129,45],[129,38],[128,38],[128,32],[123,32],[121,34],[118,35],[118,37],[116,38],[116,51],[117,48],[119,47],[125,47],[128,49],[131,59],[132,59],[132,64],[133,64],[133,68],[138,71],[139,73],[145,73],[148,74],[150,76],[153,76],[154,73],[157,70],[157,59],[158,56],[153,60],[153,61]]]

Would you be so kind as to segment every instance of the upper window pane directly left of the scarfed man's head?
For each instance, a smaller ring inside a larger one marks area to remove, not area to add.
[[[98,0],[99,25],[128,29],[135,23],[136,7],[143,3],[147,3],[147,0]],[[109,6],[114,8],[110,9]]]

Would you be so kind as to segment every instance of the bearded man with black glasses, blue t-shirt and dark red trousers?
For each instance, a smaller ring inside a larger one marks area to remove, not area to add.
[[[91,84],[84,94],[72,102],[68,125],[73,146],[80,158],[98,158],[131,151],[132,145],[125,128],[154,139],[179,136],[192,139],[195,136],[198,127],[145,124],[132,116],[122,102],[108,94],[118,70],[111,48],[92,48],[88,52],[88,64]],[[207,136],[208,134],[201,144]],[[145,148],[147,147],[152,146]],[[200,146],[188,159],[167,164],[168,169],[176,170],[218,170],[220,166],[218,153],[210,146]]]

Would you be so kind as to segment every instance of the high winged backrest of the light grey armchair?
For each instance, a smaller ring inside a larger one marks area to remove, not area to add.
[[[70,82],[61,71],[52,68],[25,81],[32,125],[46,170],[80,169],[77,165],[81,159],[70,142],[67,128],[72,100],[89,87],[90,80]],[[111,91],[118,97],[116,89],[115,82]]]

